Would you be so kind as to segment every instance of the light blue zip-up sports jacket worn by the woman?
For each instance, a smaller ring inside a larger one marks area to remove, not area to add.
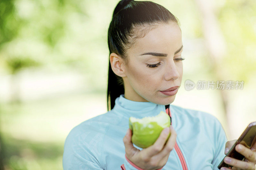
[[[218,170],[228,141],[220,121],[213,115],[170,105],[176,142],[189,170]],[[129,117],[143,118],[165,112],[165,106],[116,98],[115,107],[86,120],[68,134],[63,153],[64,170],[137,170],[125,159],[123,138]],[[134,145],[134,144],[133,144]],[[138,146],[134,145],[138,149]],[[177,151],[170,152],[162,170],[182,170]]]

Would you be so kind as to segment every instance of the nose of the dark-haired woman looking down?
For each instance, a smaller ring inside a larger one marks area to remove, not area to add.
[[[169,81],[171,79],[177,80],[180,77],[180,73],[178,72],[177,68],[178,66],[176,66],[173,60],[169,62],[165,68],[164,79],[166,81]]]

